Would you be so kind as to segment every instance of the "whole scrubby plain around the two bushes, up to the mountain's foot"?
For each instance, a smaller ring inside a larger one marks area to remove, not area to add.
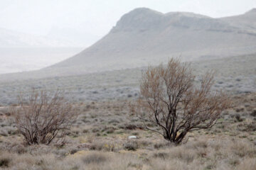
[[[256,168],[255,55],[193,62],[200,75],[215,69],[213,89],[230,94],[232,108],[213,128],[190,132],[174,146],[143,128],[129,111],[145,68],[77,77],[1,81],[0,169],[241,169]],[[198,78],[199,79],[199,78]],[[64,145],[26,146],[9,106],[18,91],[62,89],[79,116]],[[136,139],[129,139],[136,136]]]

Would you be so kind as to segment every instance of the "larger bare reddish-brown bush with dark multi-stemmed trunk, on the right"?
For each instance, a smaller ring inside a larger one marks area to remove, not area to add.
[[[211,128],[230,106],[228,96],[210,91],[212,72],[201,78],[200,86],[194,81],[190,65],[179,60],[171,59],[166,67],[149,67],[142,75],[141,96],[132,111],[147,129],[178,144],[191,130]]]

